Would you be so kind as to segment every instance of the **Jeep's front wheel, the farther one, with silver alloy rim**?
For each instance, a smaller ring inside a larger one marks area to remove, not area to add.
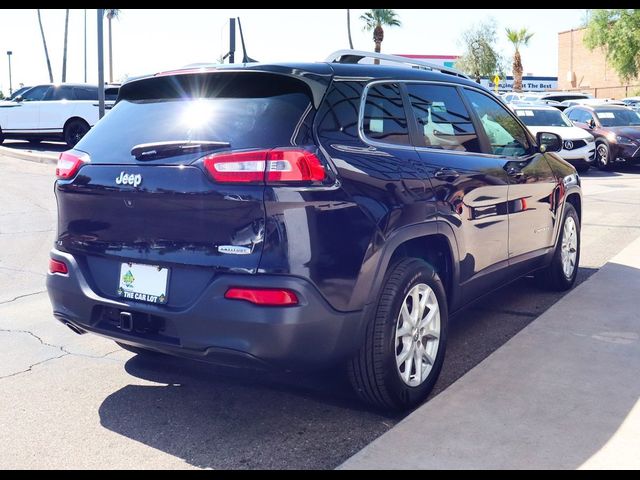
[[[575,255],[572,254],[572,249],[575,249]],[[564,207],[560,236],[553,254],[553,260],[551,260],[551,264],[547,268],[536,274],[536,280],[538,280],[540,286],[549,290],[569,290],[576,282],[579,263],[580,220],[574,206],[567,203]]]

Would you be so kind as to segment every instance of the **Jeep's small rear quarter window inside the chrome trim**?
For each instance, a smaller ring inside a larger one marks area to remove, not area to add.
[[[397,83],[382,83],[368,90],[363,131],[372,140],[409,145],[407,117]]]

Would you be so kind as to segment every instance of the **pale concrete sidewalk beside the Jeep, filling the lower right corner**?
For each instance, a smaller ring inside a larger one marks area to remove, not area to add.
[[[341,469],[640,468],[640,239]]]

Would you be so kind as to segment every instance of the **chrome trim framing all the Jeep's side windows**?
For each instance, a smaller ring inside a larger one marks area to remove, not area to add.
[[[397,83],[400,86],[400,94],[402,95],[403,98],[403,103],[404,103],[404,109],[405,109],[405,116],[407,118],[407,124],[409,126],[409,141],[411,142],[411,145],[401,145],[401,144],[397,144],[397,143],[386,143],[386,142],[380,142],[377,140],[373,140],[373,139],[369,139],[367,138],[367,136],[364,134],[364,107],[366,105],[366,98],[367,98],[367,94],[369,92],[369,89],[374,86],[374,85],[378,85],[381,83]],[[473,124],[473,128],[476,131],[476,134],[478,135],[478,142],[480,143],[480,149],[482,150],[482,152],[469,152],[469,151],[459,151],[459,150],[443,150],[440,148],[433,148],[433,147],[427,147],[427,146],[419,146],[418,142],[416,141],[416,138],[414,135],[412,135],[412,131],[413,133],[415,133],[415,135],[418,134],[418,125],[417,125],[417,120],[415,115],[413,114],[413,110],[411,109],[411,103],[409,102],[409,98],[406,92],[406,84],[411,83],[411,84],[432,84],[432,85],[443,85],[443,86],[451,86],[454,87],[456,90],[458,90],[458,95],[460,95],[460,98],[462,99],[462,102],[465,106],[465,108],[467,109],[467,111],[469,112],[469,114],[471,115],[471,122]],[[515,118],[516,122],[518,123],[518,125],[520,125],[522,127],[522,129],[524,130],[525,136],[527,137],[527,140],[529,140],[530,146],[531,146],[531,152],[526,153],[525,155],[521,156],[521,157],[506,157],[505,155],[496,155],[494,153],[491,152],[491,148],[489,146],[489,139],[486,136],[486,132],[484,131],[484,128],[479,128],[480,125],[480,120],[478,119],[478,116],[475,112],[475,110],[473,108],[471,108],[471,105],[469,105],[469,101],[466,97],[466,95],[464,94],[464,92],[462,90],[464,89],[468,89],[468,90],[472,90],[478,93],[481,93],[485,96],[488,96],[489,98],[493,99],[496,103],[498,103],[502,108],[504,108],[513,118]],[[407,103],[409,102],[409,103]],[[410,113],[410,115],[409,115]],[[415,80],[415,79],[384,79],[384,80],[375,80],[373,82],[369,82],[367,83],[364,88],[362,89],[362,94],[360,95],[360,110],[358,112],[358,137],[360,138],[360,141],[362,141],[362,143],[364,143],[365,145],[370,145],[372,147],[381,147],[381,148],[396,148],[396,149],[402,149],[402,150],[414,150],[414,151],[418,151],[418,152],[432,152],[432,153],[446,153],[446,154],[451,154],[451,155],[485,155],[487,157],[490,158],[525,158],[525,157],[530,157],[531,155],[535,154],[535,152],[538,149],[538,142],[536,141],[536,139],[533,137],[533,135],[531,135],[531,133],[529,132],[529,130],[527,129],[526,125],[524,125],[519,118],[517,118],[509,109],[509,107],[506,106],[506,104],[501,101],[501,99],[496,99],[493,98],[491,95],[487,95],[487,92],[484,91],[482,88],[476,88],[472,85],[466,85],[466,84],[462,84],[462,83],[454,83],[454,82],[446,82],[446,81],[438,81],[438,80]]]

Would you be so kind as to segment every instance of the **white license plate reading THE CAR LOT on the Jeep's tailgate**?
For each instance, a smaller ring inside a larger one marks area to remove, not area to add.
[[[127,300],[167,303],[169,269],[140,263],[120,265],[118,295]]]

